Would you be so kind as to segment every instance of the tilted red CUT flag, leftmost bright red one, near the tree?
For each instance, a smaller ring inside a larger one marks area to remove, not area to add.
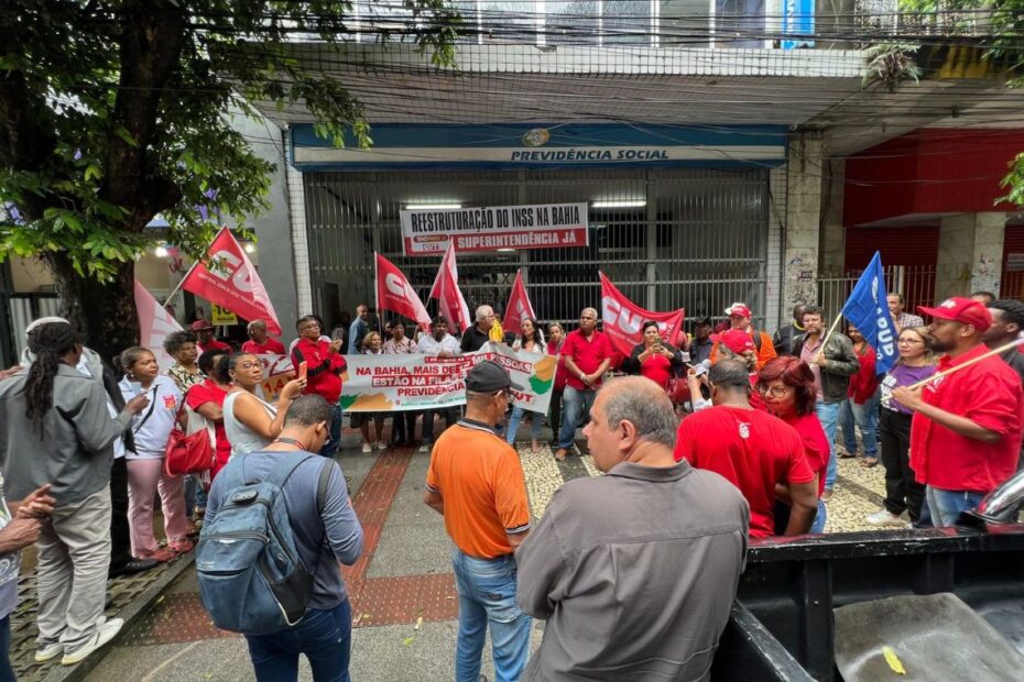
[[[266,322],[266,331],[280,336],[281,324],[270,296],[230,230],[222,228],[217,233],[208,255],[210,266],[197,263],[185,276],[182,287],[250,322],[263,320]]]

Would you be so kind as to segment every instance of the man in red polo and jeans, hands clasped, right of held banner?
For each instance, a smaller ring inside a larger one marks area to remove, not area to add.
[[[555,443],[555,459],[562,461],[573,449],[576,425],[593,405],[601,378],[608,371],[612,358],[611,341],[597,330],[597,310],[584,308],[579,314],[579,329],[565,338],[562,356],[565,359],[565,392],[562,405],[565,417]]]

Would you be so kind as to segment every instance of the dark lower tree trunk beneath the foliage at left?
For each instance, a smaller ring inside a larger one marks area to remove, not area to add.
[[[134,261],[121,264],[109,284],[80,276],[59,253],[48,254],[46,261],[61,297],[62,315],[81,333],[85,345],[109,363],[124,349],[139,344]]]

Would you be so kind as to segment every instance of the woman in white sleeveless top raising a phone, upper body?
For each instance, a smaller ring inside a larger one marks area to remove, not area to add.
[[[284,415],[292,400],[302,395],[306,380],[295,378],[281,389],[272,405],[257,395],[263,383],[263,362],[250,353],[232,353],[220,359],[220,374],[231,378],[224,399],[224,430],[231,443],[231,457],[263,450],[284,429]]]

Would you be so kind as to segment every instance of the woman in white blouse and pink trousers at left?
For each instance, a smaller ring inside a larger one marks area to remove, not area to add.
[[[131,553],[137,559],[170,561],[188,552],[193,542],[186,537],[184,479],[164,472],[164,451],[174,429],[182,392],[174,381],[160,373],[156,356],[144,348],[121,353],[124,378],[118,385],[126,400],[145,395],[150,406],[135,415],[131,430],[134,451],[124,453],[128,465],[128,526]],[[156,544],[153,536],[153,498],[160,493],[167,547]]]

